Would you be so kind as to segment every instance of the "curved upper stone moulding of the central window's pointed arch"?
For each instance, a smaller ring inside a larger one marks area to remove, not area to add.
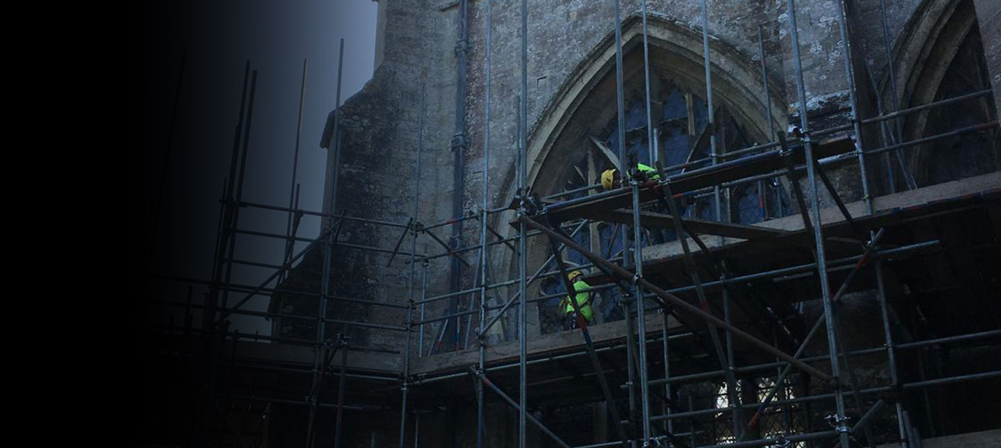
[[[688,28],[678,22],[656,16],[648,16],[648,38],[650,42],[652,65],[664,64],[658,55],[671,59],[671,72],[689,87],[698,87],[705,92],[705,68],[703,65],[702,32]],[[623,53],[629,55],[631,50],[642,54],[643,28],[642,21],[630,17],[623,24]],[[624,62],[624,77],[629,79],[632,71],[639,70],[642,76],[642,57],[639,66],[631,66]],[[768,122],[766,102],[772,102],[773,119],[776,129],[784,128],[785,106],[781,95],[775,90],[766,98],[763,90],[761,68],[758,62],[752,61],[741,54],[733,46],[710,36],[710,63],[713,75],[713,95],[717,105],[724,105],[738,120],[749,126],[751,135],[759,141],[768,138]],[[541,117],[533,126],[529,138],[528,162],[529,184],[536,185],[539,175],[543,172],[547,159],[561,137],[565,135],[571,119],[577,115],[582,104],[594,93],[596,87],[607,76],[615,76],[616,49],[615,36],[609,34],[589,54],[575,72],[554,95],[553,100],[543,110]],[[652,81],[653,82],[653,81]],[[770,83],[776,86],[777,83]],[[756,88],[759,87],[759,88]],[[605,111],[615,116],[615,105],[611,111]],[[515,189],[512,187],[512,191]]]

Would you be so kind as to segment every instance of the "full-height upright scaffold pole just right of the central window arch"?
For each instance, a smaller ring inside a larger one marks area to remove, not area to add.
[[[813,211],[817,222],[813,226],[814,244],[816,248],[815,257],[817,259],[817,271],[820,276],[821,300],[824,303],[824,319],[827,323],[827,345],[831,358],[831,383],[835,391],[835,405],[837,415],[835,416],[836,428],[841,439],[841,446],[849,447],[848,426],[845,419],[845,396],[841,387],[841,371],[838,359],[838,344],[835,339],[834,308],[831,304],[831,290],[828,285],[827,260],[824,254],[824,235],[820,215],[820,198],[818,197],[817,177],[815,159],[813,156],[813,143],[810,140],[810,119],[808,117],[806,87],[803,80],[803,64],[800,59],[800,38],[796,25],[796,3],[795,0],[787,0],[789,8],[789,28],[793,45],[793,65],[796,70],[796,90],[799,94],[800,125],[803,133],[803,149],[806,156],[807,179],[810,185],[810,208]]]

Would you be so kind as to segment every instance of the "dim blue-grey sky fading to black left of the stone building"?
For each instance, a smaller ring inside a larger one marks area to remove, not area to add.
[[[133,41],[129,42],[135,49],[130,58],[134,75],[130,96],[141,112],[132,117],[138,121],[132,131],[139,135],[132,143],[143,148],[130,151],[136,177],[133,185],[142,185],[133,191],[130,248],[141,260],[134,260],[132,269],[208,280],[244,64],[249,60],[251,70],[257,70],[257,83],[243,199],[288,204],[302,65],[308,59],[297,182],[301,184],[299,206],[319,210],[326,163],[319,139],[326,115],[334,108],[338,40],[345,39],[343,102],[371,77],[377,4],[370,0],[143,3],[135,7],[138,17],[131,24]],[[177,118],[171,131],[185,49]],[[169,162],[165,164],[168,140]],[[162,200],[157,202],[157,197]],[[244,208],[240,213],[241,229],[285,233],[282,212]],[[156,232],[150,238],[153,220]],[[306,218],[298,235],[311,238],[317,232],[318,220]],[[237,239],[236,258],[280,264],[282,242],[248,236]],[[153,242],[151,247],[148,242]],[[233,281],[256,284],[272,272],[240,267],[234,270]],[[148,287],[157,299],[184,300],[184,285],[157,281]],[[203,291],[196,287],[196,302]],[[261,310],[265,303],[255,301],[248,308]],[[165,320],[163,310],[153,310],[151,318]],[[241,332],[263,334],[269,328],[258,318],[234,317],[232,321]]]

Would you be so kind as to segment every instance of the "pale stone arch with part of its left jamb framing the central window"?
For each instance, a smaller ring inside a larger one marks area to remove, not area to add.
[[[642,20],[633,16],[624,22],[624,78],[627,86],[630,79],[643,79],[643,28]],[[679,22],[662,17],[648,16],[648,35],[652,76],[660,71],[669,75],[679,87],[704,96],[706,91],[703,38],[700,30],[689,28]],[[767,103],[773,109],[776,129],[785,128],[785,110],[781,82],[771,82],[773,90],[763,91],[760,62],[741,54],[734,46],[710,37],[711,73],[713,75],[714,105],[723,106],[731,118],[740,122],[747,135],[754,141],[770,140],[767,120]],[[656,66],[660,66],[655,70]],[[542,110],[539,118],[530,127],[528,143],[528,182],[541,193],[555,186],[557,176],[551,167],[559,167],[561,161],[573,153],[574,144],[589,127],[595,123],[607,122],[616,113],[615,93],[616,49],[615,35],[610,32],[578,64],[573,73],[561,85],[557,93]],[[652,83],[657,82],[652,79]],[[653,93],[653,92],[652,92]],[[609,98],[613,98],[611,101]],[[736,149],[736,148],[731,148]],[[549,178],[548,178],[549,177]],[[514,194],[517,184],[508,184],[507,196]],[[498,214],[495,223],[503,226],[510,215]],[[545,244],[530,244],[530,264],[541,263],[545,259]],[[517,258],[504,252],[494,252],[500,266],[517,271]],[[538,284],[534,286],[538,288]],[[535,293],[532,289],[529,295]]]

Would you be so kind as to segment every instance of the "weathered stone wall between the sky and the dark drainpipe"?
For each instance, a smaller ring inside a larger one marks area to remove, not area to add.
[[[380,5],[379,20],[382,31],[378,36],[378,49],[381,53],[376,60],[381,64],[364,88],[345,100],[340,108],[339,175],[334,211],[405,223],[413,211],[419,178],[417,220],[425,223],[442,220],[449,212],[451,194],[452,163],[448,142],[454,114],[455,17],[439,11],[431,1],[387,1]],[[424,109],[421,111],[422,88]],[[418,142],[421,116],[423,134]],[[334,147],[334,142],[329,141],[331,125],[332,121],[327,123],[321,143],[327,148]],[[418,143],[423,148],[419,175],[414,172]],[[328,187],[324,209],[330,202]],[[398,228],[346,220],[338,241],[391,250],[403,232]],[[437,233],[445,235],[440,230]],[[424,240],[418,244],[416,252],[441,252],[428,242]],[[335,247],[331,295],[405,305],[409,294],[409,237],[403,241],[400,252],[402,254],[395,256],[387,266],[388,254]],[[313,272],[316,271],[313,265],[321,263],[321,251],[314,251],[303,263],[305,268],[298,269],[292,278],[302,277],[302,286],[310,287],[307,291],[318,291],[319,276]],[[443,291],[445,282],[441,279],[446,279],[446,270],[445,262],[430,262],[428,294]],[[421,268],[416,271],[419,288]],[[336,300],[332,303],[329,316],[334,319],[393,326],[401,326],[405,319],[398,309],[355,306]],[[315,301],[297,300],[291,307],[286,304],[286,312],[293,312],[293,309],[295,314],[315,315]],[[435,307],[428,308],[428,316],[436,316],[436,313]],[[332,331],[339,331],[335,330],[337,328],[340,326],[332,326]],[[309,328],[299,332],[302,331],[311,333]],[[402,347],[403,334],[400,332],[355,329],[349,333],[354,335],[352,344],[360,347],[385,350]]]

